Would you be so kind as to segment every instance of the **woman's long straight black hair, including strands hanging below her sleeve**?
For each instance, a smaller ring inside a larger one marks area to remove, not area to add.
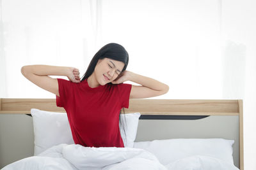
[[[103,46],[102,48],[100,48],[100,50],[97,53],[95,53],[86,72],[83,74],[83,76],[81,78],[81,82],[92,75],[92,73],[95,69],[95,66],[97,65],[98,60],[104,59],[104,58],[109,58],[109,59],[124,62],[124,68],[122,69],[120,75],[122,75],[123,71],[126,70],[126,67],[129,62],[129,55],[128,55],[128,52],[125,50],[124,46],[119,45],[117,43],[109,43],[109,44]],[[116,79],[118,79],[118,78],[119,78],[119,76]],[[108,87],[111,87],[111,85],[112,85],[112,83],[109,82]],[[125,113],[124,108],[123,108],[123,112]],[[121,113],[122,113],[122,110],[120,110],[120,113],[119,113],[119,122],[121,123],[121,125],[124,129],[124,132],[125,132],[124,122],[123,122],[123,120],[120,121]],[[124,116],[125,116],[125,114],[124,114]],[[126,122],[126,118],[125,118],[125,122]],[[125,123],[125,125],[127,125],[127,124]],[[126,139],[126,143],[127,143],[126,132],[125,132],[125,139]]]

